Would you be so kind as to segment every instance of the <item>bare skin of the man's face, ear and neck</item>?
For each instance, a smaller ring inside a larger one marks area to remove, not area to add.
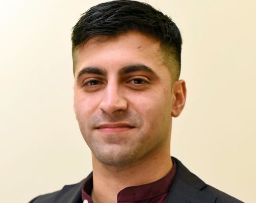
[[[91,196],[116,202],[123,188],[170,171],[172,117],[184,108],[186,85],[172,84],[159,42],[136,31],[96,36],[74,60],[74,111],[92,151]]]

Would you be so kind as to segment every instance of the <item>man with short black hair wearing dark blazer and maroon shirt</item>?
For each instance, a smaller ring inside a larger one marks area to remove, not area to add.
[[[170,156],[186,100],[180,31],[136,1],[89,9],[73,27],[74,111],[93,174],[31,202],[241,202]]]

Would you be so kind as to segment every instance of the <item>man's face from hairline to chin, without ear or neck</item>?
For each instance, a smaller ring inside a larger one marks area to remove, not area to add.
[[[74,111],[101,163],[169,152],[171,75],[161,58],[159,42],[135,31],[94,37],[76,52]]]

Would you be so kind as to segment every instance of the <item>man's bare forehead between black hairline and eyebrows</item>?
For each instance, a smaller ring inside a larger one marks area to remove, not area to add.
[[[132,63],[154,69],[165,66],[162,58],[159,41],[137,31],[114,37],[95,36],[80,45],[73,54],[75,74],[86,66],[108,72]]]

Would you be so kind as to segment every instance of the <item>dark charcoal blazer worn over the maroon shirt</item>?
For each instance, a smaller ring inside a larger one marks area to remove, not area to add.
[[[177,164],[177,174],[172,183],[166,202],[242,203],[242,201],[207,185],[196,175],[192,174],[181,161],[174,157],[172,157],[172,159]],[[92,174],[88,177],[91,175]],[[38,196],[29,203],[81,203],[81,189],[86,179],[78,184],[66,185],[62,190],[57,192]]]

